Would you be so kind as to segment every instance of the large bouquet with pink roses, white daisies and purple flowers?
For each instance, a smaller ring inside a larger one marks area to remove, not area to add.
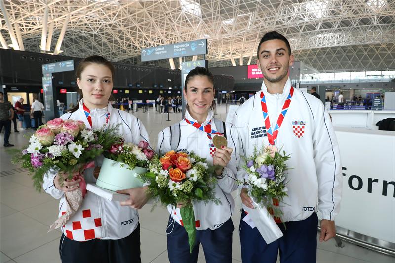
[[[35,188],[41,191],[44,175],[50,170],[62,175],[60,182],[80,175],[89,162],[121,140],[116,130],[93,131],[83,121],[56,118],[42,125],[30,137],[29,146],[15,153],[12,162],[28,168]]]

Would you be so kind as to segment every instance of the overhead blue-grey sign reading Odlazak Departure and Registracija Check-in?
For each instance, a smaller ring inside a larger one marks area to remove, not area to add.
[[[151,61],[158,59],[178,58],[204,54],[207,54],[207,39],[200,39],[183,43],[143,48],[141,50],[141,61]]]

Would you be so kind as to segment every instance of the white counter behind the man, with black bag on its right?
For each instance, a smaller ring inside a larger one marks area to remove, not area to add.
[[[377,129],[376,123],[382,119],[395,118],[395,110],[329,110],[332,123],[337,127],[357,127]]]

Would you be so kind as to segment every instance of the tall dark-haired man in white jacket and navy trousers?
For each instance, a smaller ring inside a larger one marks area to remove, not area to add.
[[[242,211],[240,241],[242,261],[316,262],[317,210],[322,213],[320,241],[335,236],[339,213],[342,173],[339,146],[329,115],[314,96],[291,86],[288,68],[294,61],[288,40],[269,32],[258,46],[258,67],[264,74],[262,88],[237,109],[233,124],[240,138],[240,154],[246,157],[262,144],[290,154],[287,161],[288,197],[279,204],[283,215],[278,223],[283,237],[267,244]],[[245,175],[243,169],[238,179]],[[253,208],[243,189],[243,207]]]

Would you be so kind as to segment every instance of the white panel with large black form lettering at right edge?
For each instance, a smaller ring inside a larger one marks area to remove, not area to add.
[[[347,118],[362,120],[370,112],[339,112],[332,118],[348,114]],[[395,132],[345,127],[335,127],[335,132],[343,167],[343,198],[336,226],[389,242],[381,245],[394,248]]]

